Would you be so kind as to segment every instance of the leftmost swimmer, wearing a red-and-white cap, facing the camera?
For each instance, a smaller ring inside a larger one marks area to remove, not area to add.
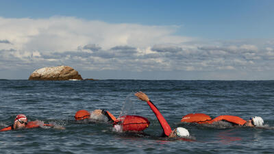
[[[36,128],[41,126],[49,126],[53,127],[51,124],[44,124],[42,121],[35,120],[27,122],[27,116],[25,114],[18,114],[14,119],[13,125],[5,127],[0,131],[10,131],[10,130],[17,130],[17,129],[29,129],[29,128]],[[64,129],[63,127],[61,129]]]

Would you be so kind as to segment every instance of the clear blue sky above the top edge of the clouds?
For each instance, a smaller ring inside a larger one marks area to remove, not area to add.
[[[179,25],[179,35],[271,38],[274,1],[1,1],[6,18],[75,16],[108,23]]]

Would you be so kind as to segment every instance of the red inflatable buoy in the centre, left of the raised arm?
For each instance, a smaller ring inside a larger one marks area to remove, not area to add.
[[[135,115],[121,116],[114,122],[114,125],[121,125],[123,131],[143,131],[149,124],[147,118]]]

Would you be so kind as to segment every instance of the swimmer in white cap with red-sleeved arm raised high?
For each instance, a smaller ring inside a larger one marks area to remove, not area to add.
[[[189,136],[188,130],[183,127],[177,127],[172,130],[171,127],[169,126],[169,123],[166,122],[166,120],[164,119],[164,116],[162,116],[158,108],[149,100],[149,97],[147,97],[147,94],[143,92],[136,92],[135,96],[138,97],[138,99],[140,99],[141,101],[146,101],[149,107],[151,107],[151,110],[154,112],[155,116],[159,120],[160,125],[162,126],[165,137],[184,138]]]

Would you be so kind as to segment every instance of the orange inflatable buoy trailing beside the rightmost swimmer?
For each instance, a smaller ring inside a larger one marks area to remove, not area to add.
[[[187,114],[183,116],[181,122],[185,123],[207,123],[206,121],[211,120],[210,116],[206,114]]]

